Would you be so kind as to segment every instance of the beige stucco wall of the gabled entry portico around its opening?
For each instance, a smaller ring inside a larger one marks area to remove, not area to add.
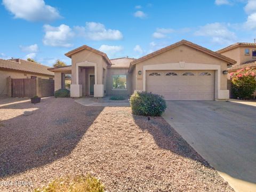
[[[97,83],[103,84],[102,77],[103,77],[103,67],[107,68],[107,62],[103,57],[97,53],[94,53],[89,50],[83,50],[80,52],[75,53],[71,56],[72,59],[72,84],[76,84],[76,63],[89,61],[97,64]]]

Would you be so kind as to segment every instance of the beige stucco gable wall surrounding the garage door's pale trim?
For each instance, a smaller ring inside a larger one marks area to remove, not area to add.
[[[135,90],[143,90],[143,66],[162,63],[178,63],[179,61],[198,63],[198,65],[200,65],[199,63],[203,63],[221,66],[220,89],[227,89],[227,75],[222,74],[223,70],[227,70],[227,62],[202,51],[197,51],[196,49],[193,49],[187,45],[180,45],[172,50],[156,55],[153,58],[137,63],[133,69],[135,70],[135,75],[137,76],[139,70],[142,71],[142,74],[140,75],[141,77],[136,77]]]

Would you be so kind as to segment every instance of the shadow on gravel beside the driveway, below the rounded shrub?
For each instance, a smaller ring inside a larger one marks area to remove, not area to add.
[[[158,147],[211,167],[162,117],[148,120],[148,117],[133,115],[133,119],[142,131],[153,136]]]

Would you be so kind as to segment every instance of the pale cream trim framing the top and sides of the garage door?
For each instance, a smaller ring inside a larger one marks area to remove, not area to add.
[[[220,65],[211,65],[204,63],[185,63],[184,61],[178,63],[162,63],[155,65],[143,66],[143,91],[146,91],[146,71],[147,70],[215,70],[215,99],[223,98],[227,95],[226,90],[220,90]],[[225,92],[223,94],[223,92]],[[228,98],[227,98],[228,99]]]

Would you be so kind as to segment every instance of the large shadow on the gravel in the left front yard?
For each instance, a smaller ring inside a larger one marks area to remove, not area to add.
[[[1,121],[0,178],[43,166],[71,153],[103,107],[84,107],[71,98],[47,98],[0,107],[38,108],[29,116]],[[1,117],[0,117],[1,118]]]

